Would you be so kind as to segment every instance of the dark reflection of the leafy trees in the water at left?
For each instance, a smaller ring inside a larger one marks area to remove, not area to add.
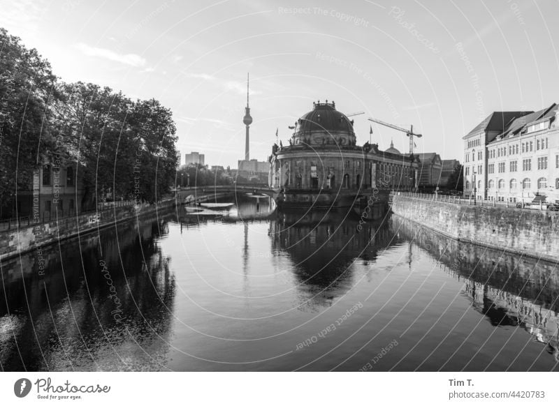
[[[157,239],[167,227],[145,219],[43,248],[45,276],[35,253],[3,263],[2,368],[164,369],[175,282]]]

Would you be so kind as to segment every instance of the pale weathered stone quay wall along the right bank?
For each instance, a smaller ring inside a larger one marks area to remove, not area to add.
[[[559,213],[474,206],[395,194],[392,212],[458,241],[559,260]]]

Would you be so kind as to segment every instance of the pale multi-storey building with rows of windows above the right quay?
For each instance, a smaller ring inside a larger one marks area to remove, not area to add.
[[[464,137],[464,193],[516,202],[559,189],[559,106],[494,112]]]

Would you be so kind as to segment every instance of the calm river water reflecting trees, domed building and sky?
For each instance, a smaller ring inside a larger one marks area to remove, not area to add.
[[[233,200],[231,200],[233,201]],[[180,211],[1,264],[2,370],[557,370],[555,264],[393,216]]]

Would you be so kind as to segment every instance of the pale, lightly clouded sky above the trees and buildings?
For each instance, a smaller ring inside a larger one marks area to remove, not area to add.
[[[251,158],[335,101],[358,144],[422,133],[414,152],[461,159],[493,111],[559,101],[559,3],[536,1],[0,0],[0,27],[66,82],[93,82],[173,111],[182,153],[237,167],[250,73]]]

